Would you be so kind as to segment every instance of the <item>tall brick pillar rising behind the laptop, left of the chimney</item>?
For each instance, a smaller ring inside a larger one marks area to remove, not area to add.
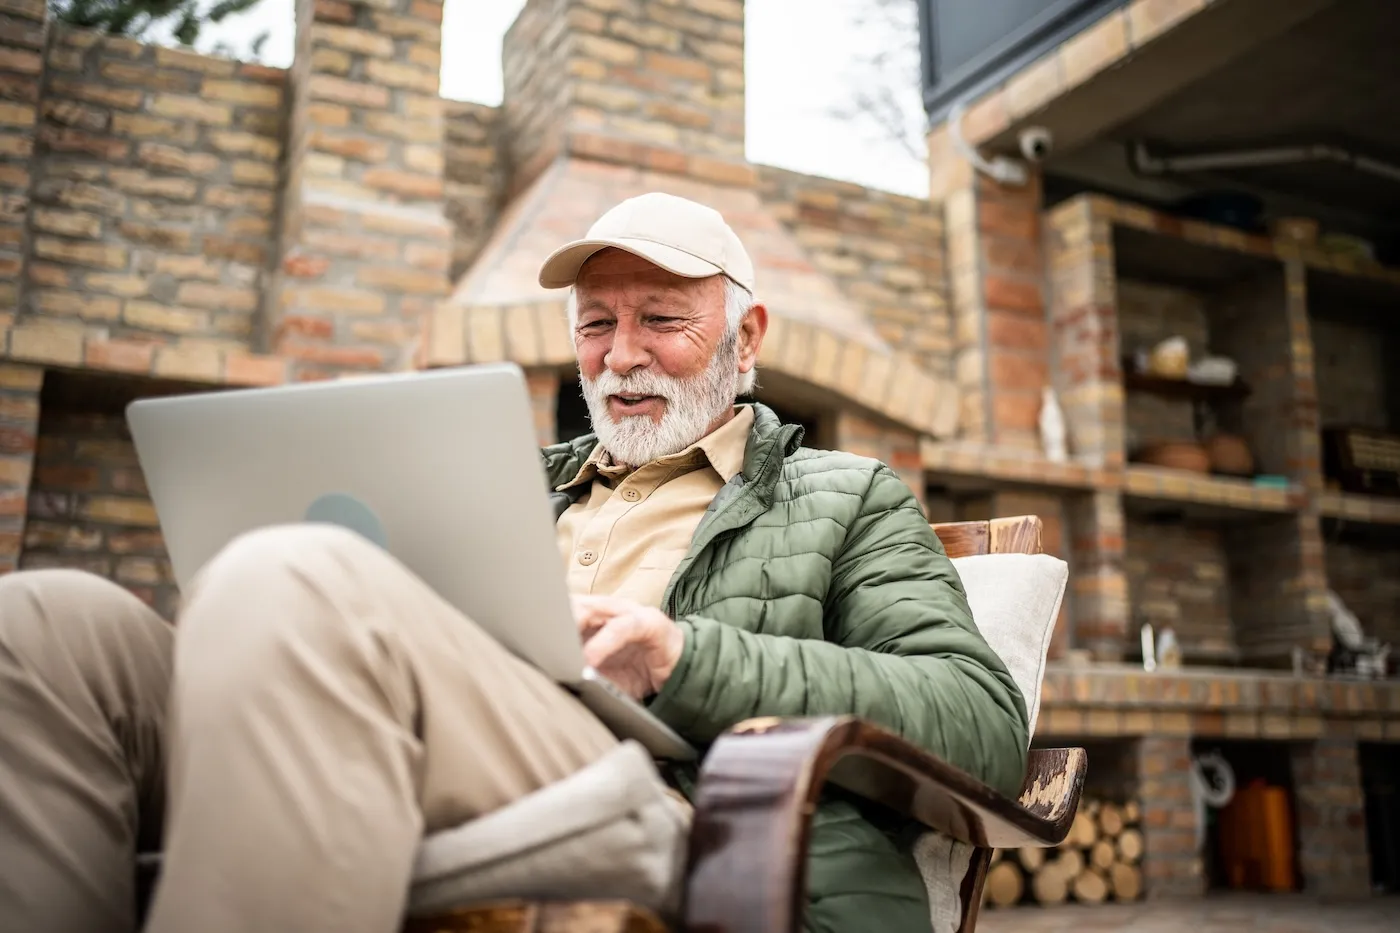
[[[410,368],[448,290],[441,0],[298,0],[263,338],[294,378]]]

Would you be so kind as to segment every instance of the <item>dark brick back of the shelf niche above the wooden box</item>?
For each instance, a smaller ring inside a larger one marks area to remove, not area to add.
[[[1313,367],[1322,423],[1389,429],[1396,422],[1386,403],[1386,373],[1393,353],[1373,326],[1313,318]]]

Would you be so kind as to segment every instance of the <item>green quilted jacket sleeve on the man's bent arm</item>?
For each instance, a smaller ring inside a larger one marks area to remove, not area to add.
[[[1021,790],[1025,700],[973,625],[938,535],[886,466],[834,558],[826,640],[678,622],[686,647],[651,707],[692,741],[753,716],[854,714],[1005,794]]]

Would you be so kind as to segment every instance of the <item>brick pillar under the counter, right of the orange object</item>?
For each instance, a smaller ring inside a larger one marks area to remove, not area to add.
[[[1371,862],[1357,742],[1320,738],[1294,745],[1291,752],[1303,890],[1320,897],[1365,897]]]

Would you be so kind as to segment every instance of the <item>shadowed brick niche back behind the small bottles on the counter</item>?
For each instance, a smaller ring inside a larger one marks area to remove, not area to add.
[[[1124,569],[1133,626],[1170,628],[1186,660],[1219,663],[1233,656],[1229,555],[1221,528],[1127,520]]]

